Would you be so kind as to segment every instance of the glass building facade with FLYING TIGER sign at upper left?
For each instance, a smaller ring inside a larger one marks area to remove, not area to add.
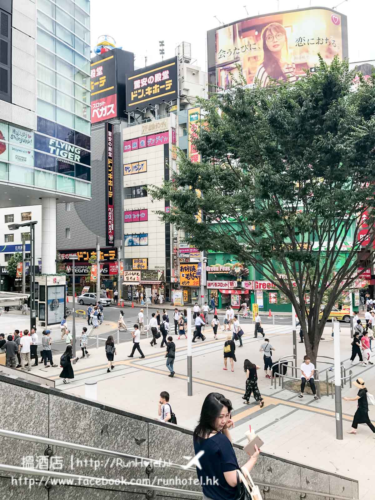
[[[0,121],[0,180],[91,196],[89,12],[37,0],[36,130]]]

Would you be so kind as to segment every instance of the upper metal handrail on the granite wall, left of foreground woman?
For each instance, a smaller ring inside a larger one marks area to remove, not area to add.
[[[32,441],[41,444],[47,444],[49,446],[58,446],[60,448],[74,449],[76,451],[85,451],[86,453],[96,453],[98,455],[111,456],[113,458],[127,458],[129,460],[143,460],[144,462],[159,464],[160,460],[154,458],[144,458],[142,456],[129,455],[127,453],[121,453],[120,451],[113,451],[110,449],[95,448],[93,446],[85,446],[84,444],[76,444],[67,441],[60,441],[58,439],[51,439],[50,437],[35,436],[33,434],[22,434],[21,432],[14,432],[13,430],[0,429],[0,436],[11,437],[13,439],[21,439],[22,441]],[[184,468],[183,465],[179,463],[169,463],[168,467],[175,468],[178,470],[190,470],[195,472],[194,467]]]

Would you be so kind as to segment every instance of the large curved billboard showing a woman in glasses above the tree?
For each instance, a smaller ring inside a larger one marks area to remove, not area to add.
[[[311,7],[249,17],[207,32],[208,82],[228,87],[239,72],[247,85],[294,82],[318,65],[318,53],[328,64],[347,58],[345,15]]]

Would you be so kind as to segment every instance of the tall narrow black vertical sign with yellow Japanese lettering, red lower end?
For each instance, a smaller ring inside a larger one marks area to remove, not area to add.
[[[113,199],[113,125],[105,123],[105,187],[106,187],[106,231],[107,246],[114,246],[114,199]]]

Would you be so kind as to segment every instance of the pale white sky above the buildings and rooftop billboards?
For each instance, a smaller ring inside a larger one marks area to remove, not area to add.
[[[117,46],[135,54],[135,67],[161,60],[159,40],[164,40],[164,58],[175,55],[181,42],[191,43],[192,60],[206,68],[206,31],[224,24],[281,10],[323,6],[332,8],[342,0],[91,0],[91,47],[101,34],[113,36]],[[246,13],[248,12],[248,15]],[[347,16],[349,61],[375,59],[373,0],[346,0],[336,9]],[[216,16],[217,19],[214,17]]]

